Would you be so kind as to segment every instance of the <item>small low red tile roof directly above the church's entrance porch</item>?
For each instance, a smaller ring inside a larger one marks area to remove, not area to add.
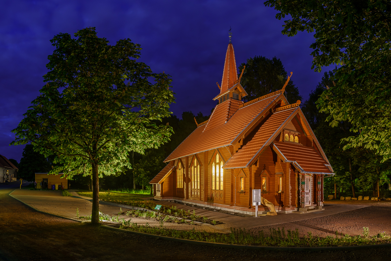
[[[289,142],[273,142],[274,148],[277,148],[288,161],[297,162],[301,171],[309,173],[328,173],[332,171],[325,166],[329,165],[323,157],[312,147],[306,147],[301,144]]]

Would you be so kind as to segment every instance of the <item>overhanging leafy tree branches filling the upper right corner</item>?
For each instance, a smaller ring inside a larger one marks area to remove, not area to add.
[[[285,21],[282,33],[314,32],[312,68],[339,65],[318,106],[331,126],[349,121],[359,133],[345,149],[375,149],[391,157],[391,2],[386,0],[268,0]]]

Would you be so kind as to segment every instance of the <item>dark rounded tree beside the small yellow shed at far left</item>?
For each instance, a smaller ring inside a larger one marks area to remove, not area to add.
[[[32,144],[26,144],[19,163],[18,176],[27,181],[35,179],[35,173],[50,171],[50,163],[44,155],[34,151]],[[40,182],[40,180],[38,180]]]

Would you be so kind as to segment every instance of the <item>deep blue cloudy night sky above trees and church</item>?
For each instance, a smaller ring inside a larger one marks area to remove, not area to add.
[[[14,129],[43,86],[50,39],[96,27],[111,44],[124,38],[141,44],[141,61],[172,76],[171,111],[209,115],[219,93],[228,30],[237,66],[256,55],[280,58],[303,100],[323,72],[311,70],[313,34],[281,34],[283,20],[264,1],[1,1],[0,154],[20,160],[23,146],[9,146]],[[332,67],[330,67],[332,68]],[[329,68],[323,68],[327,70]]]

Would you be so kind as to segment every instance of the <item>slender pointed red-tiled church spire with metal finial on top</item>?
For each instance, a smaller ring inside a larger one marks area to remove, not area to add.
[[[231,31],[231,29],[230,29]],[[224,71],[222,73],[222,82],[220,93],[226,92],[237,81],[238,74],[236,69],[235,53],[231,43],[232,33],[229,31],[230,43],[228,43],[227,53],[225,55]]]

